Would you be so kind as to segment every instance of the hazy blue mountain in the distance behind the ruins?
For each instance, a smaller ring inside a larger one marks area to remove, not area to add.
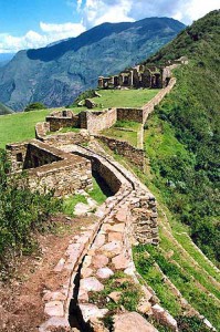
[[[155,53],[185,25],[174,19],[104,23],[77,38],[20,51],[0,69],[0,101],[13,110],[30,102],[66,105],[95,87],[98,75],[118,73]]]

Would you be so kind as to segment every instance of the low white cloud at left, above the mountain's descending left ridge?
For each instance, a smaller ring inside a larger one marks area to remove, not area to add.
[[[62,39],[76,37],[85,31],[83,23],[50,24],[40,22],[40,29],[41,33],[30,30],[22,37],[0,33],[0,53],[42,48]]]

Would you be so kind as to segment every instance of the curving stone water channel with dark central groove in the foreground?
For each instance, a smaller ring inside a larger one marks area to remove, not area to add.
[[[108,197],[96,211],[97,221],[69,246],[64,258],[54,269],[55,273],[69,271],[69,278],[57,292],[48,294],[45,313],[50,319],[40,331],[51,331],[51,326],[70,325],[80,331],[107,331],[99,319],[107,314],[106,308],[90,303],[90,292],[104,289],[106,281],[116,271],[123,271],[138,283],[132,256],[132,245],[138,242],[158,242],[157,210],[154,196],[121,164],[111,157],[97,153],[101,147],[84,148],[76,145],[60,146],[65,153],[83,156],[91,160],[92,168],[107,183],[115,194]],[[95,152],[96,151],[96,152]],[[142,302],[148,310],[153,297],[143,288]],[[60,299],[57,300],[60,294]],[[65,295],[62,298],[61,294]],[[57,310],[57,308],[60,310]],[[138,315],[138,314],[137,314]],[[119,317],[115,318],[121,322]],[[137,317],[137,320],[144,320]],[[119,324],[119,323],[118,323]],[[148,331],[156,331],[147,321]]]

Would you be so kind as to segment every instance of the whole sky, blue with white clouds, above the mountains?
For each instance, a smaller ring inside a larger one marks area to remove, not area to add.
[[[220,0],[0,0],[0,53],[42,48],[103,22],[169,17],[191,24]]]

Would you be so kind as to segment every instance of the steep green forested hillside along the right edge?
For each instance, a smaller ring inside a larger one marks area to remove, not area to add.
[[[177,84],[151,115],[146,131],[153,183],[174,219],[190,227],[193,241],[220,261],[220,11],[184,30],[146,63],[187,55]],[[149,145],[154,146],[154,149]]]

